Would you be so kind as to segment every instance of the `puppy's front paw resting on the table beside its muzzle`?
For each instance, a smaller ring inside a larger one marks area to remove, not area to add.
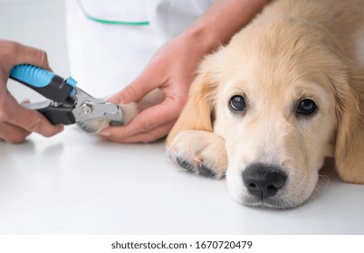
[[[225,176],[225,141],[214,133],[182,131],[167,149],[169,157],[189,172],[213,178]]]

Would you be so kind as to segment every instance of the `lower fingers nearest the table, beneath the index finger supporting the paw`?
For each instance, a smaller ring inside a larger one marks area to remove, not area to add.
[[[157,141],[158,139],[165,137],[168,135],[169,130],[173,127],[173,125],[175,124],[175,121],[173,122],[169,122],[165,125],[162,126],[158,126],[155,129],[152,129],[148,132],[144,132],[144,133],[138,133],[134,136],[127,136],[124,138],[120,138],[120,137],[113,137],[113,136],[109,136],[109,137],[104,137],[101,136],[102,140],[106,140],[106,141],[112,141],[112,142],[119,142],[119,143],[148,143],[148,142],[153,142],[153,141]]]

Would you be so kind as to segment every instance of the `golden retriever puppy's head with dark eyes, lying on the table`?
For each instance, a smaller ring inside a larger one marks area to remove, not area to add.
[[[327,156],[363,183],[364,79],[348,64],[324,29],[287,19],[255,23],[206,57],[187,107],[201,112],[192,128],[224,137],[236,201],[300,205]]]

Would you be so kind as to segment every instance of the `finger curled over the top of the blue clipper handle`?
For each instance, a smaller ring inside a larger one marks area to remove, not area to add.
[[[12,59],[6,66],[8,72],[13,69],[14,65],[22,63],[33,64],[43,69],[50,70],[47,53],[42,50],[25,46],[18,42],[7,42],[5,48],[7,49],[9,56],[11,56],[8,59]]]

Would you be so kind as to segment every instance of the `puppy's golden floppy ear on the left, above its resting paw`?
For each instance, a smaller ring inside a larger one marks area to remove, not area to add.
[[[204,61],[201,64],[199,73],[191,84],[187,104],[168,134],[167,145],[184,130],[213,131],[212,117],[217,80],[213,73],[206,70],[206,63]]]

